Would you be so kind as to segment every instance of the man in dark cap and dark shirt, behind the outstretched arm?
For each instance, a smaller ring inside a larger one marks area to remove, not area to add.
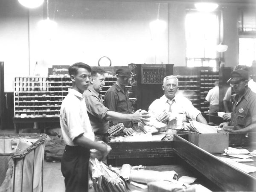
[[[131,113],[131,102],[129,100],[128,90],[125,86],[128,86],[131,81],[131,70],[129,67],[120,67],[116,70],[116,83],[108,89],[105,94],[105,106],[110,111],[116,111],[119,113]],[[118,122],[110,122],[111,125],[116,125]],[[131,121],[122,122],[125,126],[123,132],[127,135],[131,135],[134,130]]]

